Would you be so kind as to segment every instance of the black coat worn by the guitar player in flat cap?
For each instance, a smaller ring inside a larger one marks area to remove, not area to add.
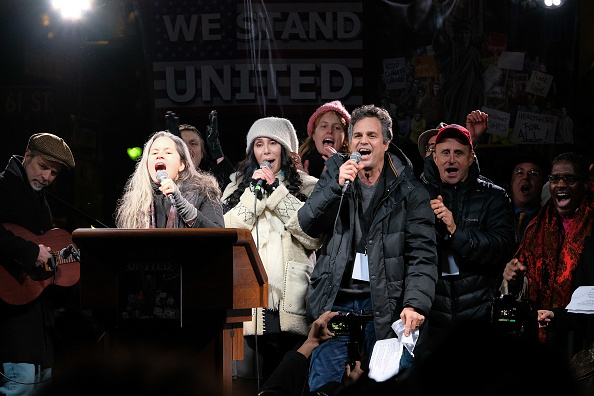
[[[21,161],[22,157],[13,156],[6,170],[0,173],[0,223],[18,224],[42,234],[52,228],[50,208],[44,193],[31,188]],[[3,227],[0,227],[0,248],[3,252],[0,264],[17,259],[25,268],[33,267],[39,254],[37,244],[16,237]],[[0,361],[51,367],[53,327],[53,306],[45,293],[20,306],[0,301]]]

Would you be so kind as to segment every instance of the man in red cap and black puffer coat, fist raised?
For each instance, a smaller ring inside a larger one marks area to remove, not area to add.
[[[510,200],[503,188],[480,176],[471,136],[460,125],[441,128],[433,158],[425,160],[439,255],[429,314],[432,339],[441,339],[458,322],[489,320],[496,281],[513,254]]]

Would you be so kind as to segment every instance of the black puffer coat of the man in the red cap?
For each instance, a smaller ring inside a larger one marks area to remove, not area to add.
[[[449,185],[442,183],[435,162],[427,157],[422,179],[431,199],[441,195],[452,211],[456,231],[449,235],[437,221],[437,250],[451,249],[460,269],[460,275],[443,277],[440,262],[429,326],[451,330],[458,321],[487,321],[503,269],[514,253],[511,202],[503,188],[479,176],[476,161],[464,182]]]

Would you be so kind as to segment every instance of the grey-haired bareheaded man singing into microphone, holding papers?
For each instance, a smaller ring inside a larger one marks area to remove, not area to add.
[[[326,161],[298,218],[306,234],[325,239],[311,274],[307,316],[371,313],[364,326],[368,358],[376,339],[396,336],[392,323],[402,319],[408,335],[429,312],[437,279],[435,223],[409,159],[398,148],[388,152],[388,112],[374,105],[356,109],[348,135],[355,153]],[[340,381],[347,341],[335,337],[314,350],[310,390]],[[410,366],[411,360],[406,353],[400,363]]]

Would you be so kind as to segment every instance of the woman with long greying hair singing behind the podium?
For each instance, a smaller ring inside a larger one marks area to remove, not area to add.
[[[157,177],[157,172],[160,177]],[[164,177],[164,178],[163,178]],[[161,180],[159,180],[161,179]],[[224,227],[217,180],[192,165],[184,141],[154,133],[118,202],[118,228]]]

